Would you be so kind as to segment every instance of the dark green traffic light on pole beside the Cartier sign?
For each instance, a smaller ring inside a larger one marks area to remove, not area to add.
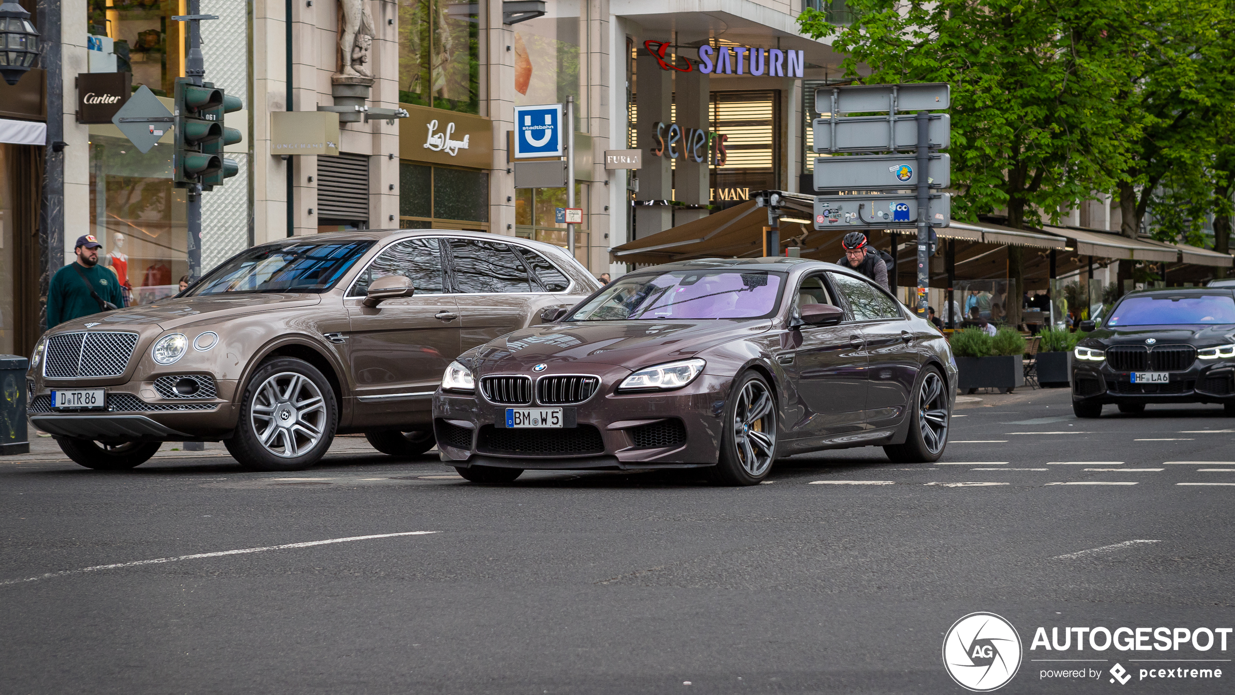
[[[177,78],[175,154],[172,160],[172,180],[177,188],[204,184],[206,177],[222,169],[222,158],[210,151],[212,143],[224,137],[224,125],[216,115],[222,102],[222,90]]]

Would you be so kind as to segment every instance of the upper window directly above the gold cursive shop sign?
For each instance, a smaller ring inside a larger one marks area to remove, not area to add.
[[[478,114],[477,4],[399,0],[399,101]]]

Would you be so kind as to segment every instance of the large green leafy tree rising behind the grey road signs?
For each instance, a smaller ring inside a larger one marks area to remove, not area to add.
[[[851,0],[848,27],[806,10],[803,32],[832,36],[866,84],[945,81],[952,89],[953,215],[1007,211],[1008,226],[1112,190],[1140,120],[1118,107],[1141,72],[1144,9],[1123,0]],[[1010,275],[1024,289],[1020,247]],[[1009,322],[1020,302],[1009,302]]]

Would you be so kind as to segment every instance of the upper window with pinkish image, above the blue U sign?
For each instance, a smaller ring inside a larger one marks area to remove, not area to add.
[[[514,25],[515,105],[566,104],[574,98],[574,130],[588,132],[588,5],[548,0],[542,17]]]

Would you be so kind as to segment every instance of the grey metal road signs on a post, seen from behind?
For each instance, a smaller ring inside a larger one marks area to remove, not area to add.
[[[815,159],[815,190],[836,191],[816,198],[815,228],[895,228],[915,222],[921,316],[930,286],[930,230],[946,227],[951,211],[951,196],[931,193],[951,185],[951,158],[937,153],[951,143],[951,123],[946,114],[929,111],[947,109],[950,101],[946,83],[815,90],[815,110],[827,115],[813,123],[815,152],[863,153]],[[847,116],[871,112],[885,115]],[[909,149],[914,153],[897,154]]]

